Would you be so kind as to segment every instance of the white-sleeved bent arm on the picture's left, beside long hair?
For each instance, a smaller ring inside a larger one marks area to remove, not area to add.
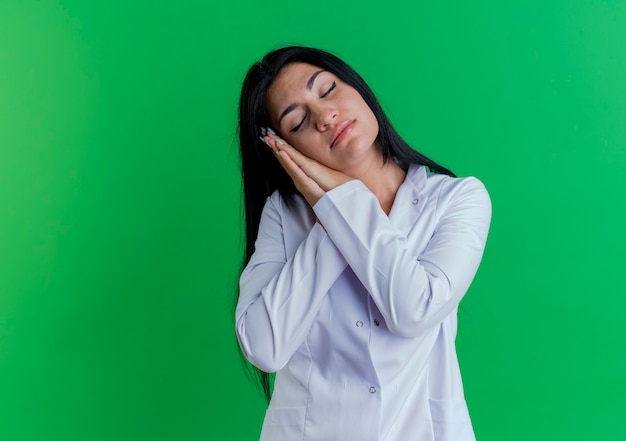
[[[321,225],[311,226],[297,217],[302,214],[297,204],[282,202],[275,193],[263,209],[235,313],[243,353],[266,372],[281,369],[302,344],[322,300],[346,267]],[[289,251],[288,242],[294,240],[301,243]]]

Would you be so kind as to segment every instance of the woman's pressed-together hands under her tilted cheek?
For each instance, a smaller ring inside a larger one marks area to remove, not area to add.
[[[327,191],[352,180],[351,177],[304,156],[271,129],[265,130],[261,139],[274,152],[280,165],[311,206]]]

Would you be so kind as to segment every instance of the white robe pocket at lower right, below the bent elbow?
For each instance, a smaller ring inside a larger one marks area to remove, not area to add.
[[[429,400],[435,441],[475,441],[465,400]]]

